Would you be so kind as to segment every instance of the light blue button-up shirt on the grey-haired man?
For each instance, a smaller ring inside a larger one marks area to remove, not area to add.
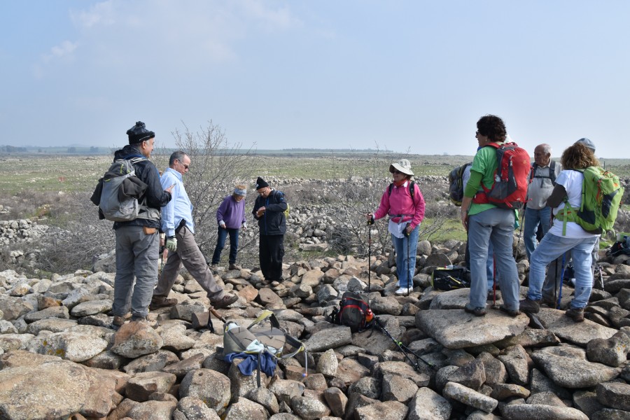
[[[160,183],[164,189],[174,185],[172,200],[165,207],[162,207],[162,232],[165,232],[167,237],[175,236],[175,228],[184,219],[186,220],[186,228],[195,233],[193,204],[190,204],[186,189],[183,187],[181,174],[175,169],[167,168],[160,177]]]

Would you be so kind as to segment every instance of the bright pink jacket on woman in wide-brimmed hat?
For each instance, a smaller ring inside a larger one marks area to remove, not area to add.
[[[402,215],[402,222],[412,221],[411,227],[415,229],[424,219],[424,197],[420,192],[418,184],[414,184],[414,202],[412,202],[411,195],[409,195],[409,181],[402,187],[391,188],[391,195],[389,195],[389,186],[386,188],[381,197],[381,204],[379,209],[374,212],[374,219],[384,218],[385,216],[400,216]],[[400,217],[392,217],[392,221],[400,222]]]

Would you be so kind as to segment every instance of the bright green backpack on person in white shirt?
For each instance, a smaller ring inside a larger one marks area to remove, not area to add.
[[[601,167],[575,169],[584,174],[582,181],[582,205],[573,209],[568,200],[564,200],[564,210],[557,214],[560,221],[575,222],[587,232],[606,232],[612,230],[617,219],[619,204],[624,196],[624,188],[619,183],[619,176]],[[562,234],[566,234],[564,223]]]

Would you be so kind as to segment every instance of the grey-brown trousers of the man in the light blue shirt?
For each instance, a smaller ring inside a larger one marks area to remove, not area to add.
[[[193,232],[190,232],[186,226],[183,226],[175,234],[175,237],[177,239],[177,250],[175,252],[169,251],[169,258],[164,269],[162,269],[162,276],[160,276],[160,281],[158,281],[158,287],[153,292],[153,297],[157,299],[168,297],[177,279],[177,274],[179,274],[179,269],[183,265],[190,275],[193,276],[193,279],[197,280],[197,283],[206,290],[211,302],[221,299],[224,295],[223,289],[216,283],[206,263],[206,258],[204,258],[202,251],[197,246],[197,242],[195,242]]]

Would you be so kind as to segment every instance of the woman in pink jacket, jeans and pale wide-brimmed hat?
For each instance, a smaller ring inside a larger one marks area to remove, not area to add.
[[[396,273],[398,290],[396,295],[409,293],[413,288],[416,268],[416,248],[420,223],[424,218],[424,197],[414,183],[411,163],[401,159],[389,165],[393,183],[383,193],[379,209],[374,214],[367,214],[368,221],[389,216],[388,231],[396,252]]]

